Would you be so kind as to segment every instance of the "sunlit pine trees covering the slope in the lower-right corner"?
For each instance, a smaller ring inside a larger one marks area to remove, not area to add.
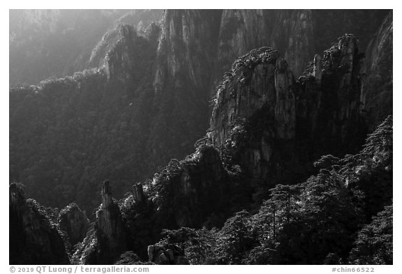
[[[221,229],[165,230],[190,264],[392,264],[392,117],[356,155],[325,155],[317,175],[276,185],[258,212]]]

